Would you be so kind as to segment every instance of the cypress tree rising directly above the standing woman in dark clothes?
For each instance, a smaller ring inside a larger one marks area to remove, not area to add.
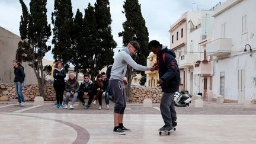
[[[53,58],[65,64],[71,60],[73,12],[71,0],[55,0],[52,12]]]

